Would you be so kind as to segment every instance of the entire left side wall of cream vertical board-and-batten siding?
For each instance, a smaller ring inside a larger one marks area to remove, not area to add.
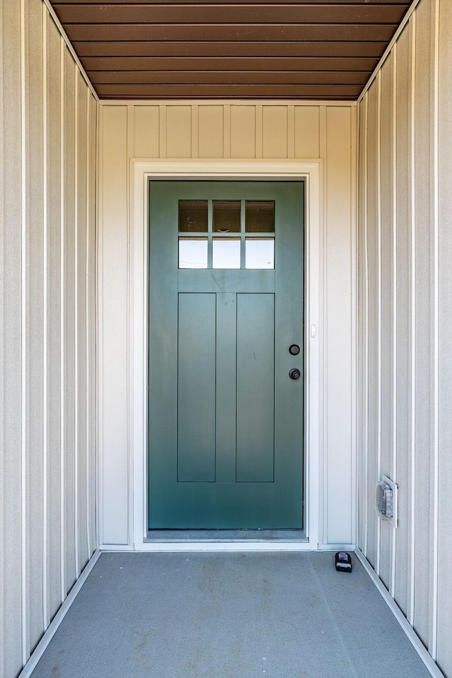
[[[96,548],[97,104],[41,0],[0,3],[0,674]]]

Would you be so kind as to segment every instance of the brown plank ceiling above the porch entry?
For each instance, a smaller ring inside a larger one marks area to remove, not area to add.
[[[410,0],[54,0],[101,99],[355,100]]]

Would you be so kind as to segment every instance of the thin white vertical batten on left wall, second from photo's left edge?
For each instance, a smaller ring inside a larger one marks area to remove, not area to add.
[[[47,603],[47,7],[42,4],[42,619],[49,626]]]

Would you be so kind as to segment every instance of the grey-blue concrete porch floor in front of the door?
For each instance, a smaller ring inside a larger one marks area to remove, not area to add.
[[[428,678],[352,558],[102,554],[32,678]]]

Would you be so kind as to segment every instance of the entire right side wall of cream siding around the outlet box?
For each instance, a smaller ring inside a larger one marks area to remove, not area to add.
[[[452,6],[422,0],[359,105],[358,545],[452,676]],[[397,530],[375,483],[399,487]]]

